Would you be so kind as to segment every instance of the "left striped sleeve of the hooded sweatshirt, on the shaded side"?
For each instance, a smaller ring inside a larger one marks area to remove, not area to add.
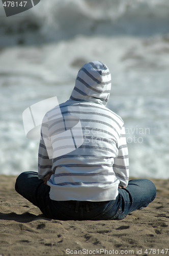
[[[47,121],[44,121],[44,120],[41,126],[41,139],[40,139],[39,152],[38,152],[38,178],[39,179],[44,179],[46,175],[51,172],[51,168],[52,168],[52,145],[51,145],[50,138],[48,137]]]

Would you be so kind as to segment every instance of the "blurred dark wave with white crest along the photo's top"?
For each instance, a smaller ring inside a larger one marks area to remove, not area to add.
[[[77,34],[168,33],[167,0],[50,0],[10,17],[0,6],[1,45],[40,44]]]

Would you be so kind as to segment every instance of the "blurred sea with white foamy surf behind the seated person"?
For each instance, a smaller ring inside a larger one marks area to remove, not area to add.
[[[104,62],[108,108],[126,127],[130,176],[169,178],[169,1],[41,0],[6,17],[0,3],[0,174],[37,170],[22,113],[69,99],[80,67]]]

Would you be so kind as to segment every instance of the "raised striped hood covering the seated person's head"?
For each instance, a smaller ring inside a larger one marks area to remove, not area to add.
[[[111,89],[111,75],[101,61],[88,62],[79,70],[71,100],[107,104]]]

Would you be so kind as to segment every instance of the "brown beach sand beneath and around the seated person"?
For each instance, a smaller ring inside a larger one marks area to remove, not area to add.
[[[60,221],[0,176],[0,255],[169,255],[169,182],[152,180],[156,199],[121,221]]]

